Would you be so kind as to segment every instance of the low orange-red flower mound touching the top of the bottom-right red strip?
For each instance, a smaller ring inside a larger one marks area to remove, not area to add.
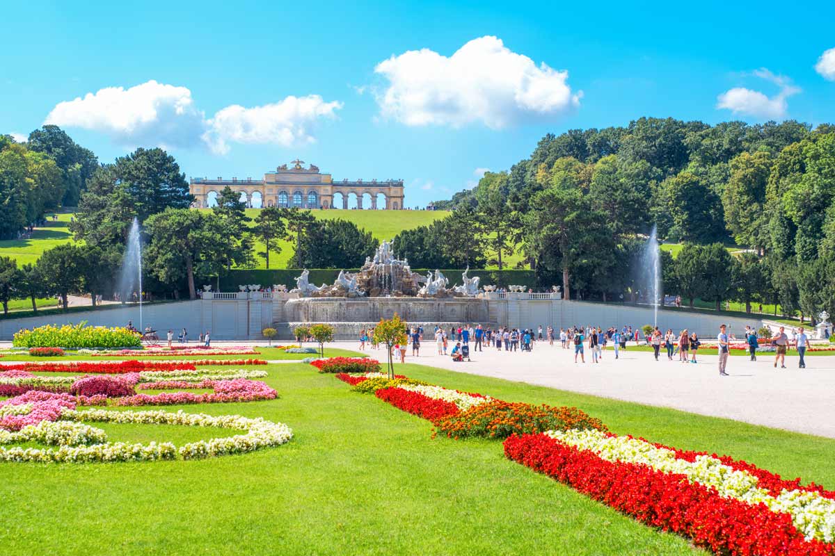
[[[450,438],[508,438],[511,434],[544,433],[546,430],[568,428],[608,430],[600,419],[590,417],[578,408],[509,403],[498,399],[473,405],[435,424]]]

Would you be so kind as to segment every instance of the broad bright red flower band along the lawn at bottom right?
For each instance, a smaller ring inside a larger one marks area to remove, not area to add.
[[[835,548],[807,541],[787,513],[765,504],[722,498],[684,475],[645,465],[608,462],[544,434],[511,436],[504,455],[632,518],[734,556],[832,556]]]

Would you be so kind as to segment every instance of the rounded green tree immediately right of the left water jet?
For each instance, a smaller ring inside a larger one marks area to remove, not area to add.
[[[197,298],[195,267],[207,258],[207,246],[227,244],[223,238],[212,237],[205,226],[207,219],[190,208],[167,208],[145,222],[149,236],[144,253],[146,268],[162,283],[175,285],[185,278],[190,299]]]

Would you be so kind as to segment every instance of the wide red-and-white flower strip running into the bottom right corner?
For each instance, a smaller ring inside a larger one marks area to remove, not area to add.
[[[761,478],[744,462],[735,467],[705,454],[573,429],[511,436],[504,441],[504,453],[716,553],[835,554],[832,493],[812,486],[781,488],[777,494],[777,476],[766,472]]]

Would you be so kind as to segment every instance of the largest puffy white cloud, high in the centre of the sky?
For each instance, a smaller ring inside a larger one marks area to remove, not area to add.
[[[409,126],[500,129],[569,113],[582,96],[571,91],[567,71],[537,66],[496,37],[473,39],[450,57],[428,48],[392,55],[374,71],[388,80],[377,94],[382,116]]]

